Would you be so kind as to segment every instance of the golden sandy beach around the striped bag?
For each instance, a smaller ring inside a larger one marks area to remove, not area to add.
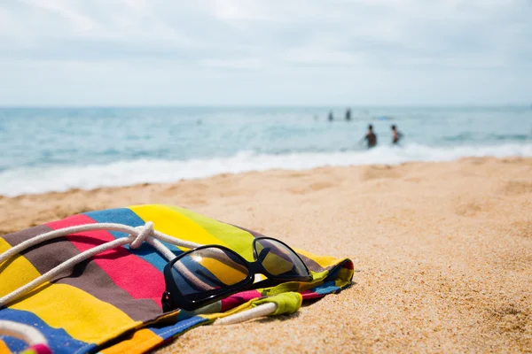
[[[176,204],[351,258],[354,283],[290,316],[192,329],[169,352],[532,352],[532,158],[223,174],[0,196],[0,235]]]

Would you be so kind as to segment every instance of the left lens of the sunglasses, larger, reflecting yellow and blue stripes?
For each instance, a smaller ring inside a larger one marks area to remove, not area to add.
[[[216,247],[194,250],[172,267],[177,288],[192,302],[221,295],[245,281],[248,274],[246,264],[238,256]]]

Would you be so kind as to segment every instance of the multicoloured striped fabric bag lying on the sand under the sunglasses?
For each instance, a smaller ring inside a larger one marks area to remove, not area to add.
[[[102,222],[138,227],[147,221],[153,221],[158,231],[179,239],[229,247],[248,261],[253,261],[253,239],[260,236],[243,227],[179,207],[137,205],[85,212],[3,235],[0,237],[0,253],[35,235],[62,227]],[[83,236],[68,235],[26,250],[0,265],[0,296],[20,288],[83,250],[124,236],[117,232],[90,231]],[[165,244],[176,255],[183,252],[176,246]],[[263,301],[264,296],[271,296],[266,300],[278,302],[280,307],[291,307],[286,311],[293,312],[297,311],[301,300],[298,304],[283,304],[288,297],[275,295],[293,292],[298,299],[312,299],[338,292],[350,284],[353,276],[350,260],[296,251],[309,267],[314,281],[286,282],[275,288],[241,292],[211,305],[209,314],[194,314],[162,312],[160,298],[165,288],[162,269],[167,264],[166,258],[147,243],[137,250],[119,247],[75,266],[72,273],[46,283],[20,301],[0,309],[0,319],[35,327],[46,337],[53,352],[145,352],[193,327],[251,308]],[[0,336],[0,352],[8,349],[24,350],[25,343]]]

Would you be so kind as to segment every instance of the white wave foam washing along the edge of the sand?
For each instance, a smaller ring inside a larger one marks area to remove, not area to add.
[[[407,161],[450,161],[464,157],[532,157],[532,144],[461,146],[435,148],[410,144],[403,148],[378,147],[372,150],[332,153],[258,155],[240,152],[231,158],[168,161],[139,159],[109,165],[58,165],[8,170],[0,173],[0,195],[119,187],[138,183],[159,183],[270,169],[303,170],[328,165],[400,164]]]

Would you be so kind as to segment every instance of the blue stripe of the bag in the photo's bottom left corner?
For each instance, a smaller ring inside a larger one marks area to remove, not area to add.
[[[39,332],[46,337],[48,345],[50,345],[50,348],[54,353],[72,353],[77,350],[86,352],[94,350],[97,347],[96,344],[82,342],[72,338],[63,328],[53,328],[48,326],[43,319],[39,318],[32,312],[6,308],[0,310],[0,319],[12,320],[35,327],[35,329],[39,330]],[[2,340],[12,352],[19,352],[27,347],[25,342],[12,337],[4,336]]]

